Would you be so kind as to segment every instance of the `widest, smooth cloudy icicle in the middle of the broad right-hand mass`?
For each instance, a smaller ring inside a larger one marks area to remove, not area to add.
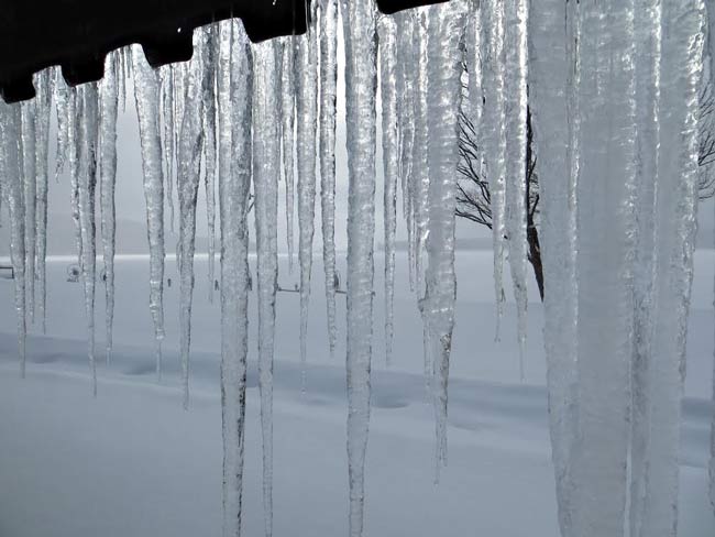
[[[573,535],[618,536],[627,487],[636,235],[634,3],[582,2],[579,17],[580,401],[571,471]]]

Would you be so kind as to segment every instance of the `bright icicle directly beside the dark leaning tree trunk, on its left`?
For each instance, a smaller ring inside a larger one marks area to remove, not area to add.
[[[519,374],[525,379],[527,321],[527,0],[507,0],[506,50],[506,231],[516,298]]]

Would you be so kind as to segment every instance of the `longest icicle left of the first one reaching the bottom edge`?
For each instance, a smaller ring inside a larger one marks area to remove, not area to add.
[[[178,147],[179,197],[179,280],[180,280],[180,353],[184,386],[184,408],[189,405],[189,350],[191,346],[191,302],[194,298],[194,250],[196,246],[196,199],[200,179],[200,160],[204,132],[204,89],[210,83],[209,70],[204,68],[208,33],[195,33],[194,58],[188,66],[186,99]],[[161,161],[160,161],[161,162]]]

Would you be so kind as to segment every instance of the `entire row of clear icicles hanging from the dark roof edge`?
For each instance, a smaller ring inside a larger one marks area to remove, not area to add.
[[[204,177],[209,278],[213,282],[218,184],[224,536],[238,536],[241,529],[251,189],[255,196],[265,530],[272,534],[278,185],[280,180],[285,185],[292,263],[297,190],[300,357],[305,361],[316,167],[331,351],[337,341],[334,146],[342,18],[350,180],[350,535],[362,535],[364,518],[378,76],[386,354],[389,360],[399,187],[409,238],[410,284],[425,322],[425,372],[436,412],[437,471],[447,461],[457,292],[458,114],[465,111],[476,127],[480,166],[490,178],[497,318],[503,311],[508,255],[524,354],[528,106],[542,204],[544,339],[561,533],[563,537],[616,537],[624,531],[631,537],[674,535],[695,231],[696,121],[707,35],[703,0],[531,0],[530,4],[526,0],[453,0],[393,17],[377,13],[372,0],[343,0],[340,10],[337,0],[319,0],[311,6],[311,15],[314,24],[306,35],[261,44],[248,41],[239,21],[198,30],[194,58],[158,70],[148,67],[139,47],[121,50],[108,56],[105,78],[98,84],[70,89],[56,70],[47,70],[36,77],[35,100],[22,106],[0,103],[0,175],[11,215],[23,374],[26,322],[38,317],[44,326],[46,163],[53,101],[58,121],[57,173],[66,164],[70,167],[95,393],[98,185],[109,360],[116,124],[125,80],[132,76],[158,375],[164,336],[164,208],[168,200],[167,219],[174,226],[174,188],[178,198],[186,406],[197,193]],[[711,474],[715,479],[715,468]]]

